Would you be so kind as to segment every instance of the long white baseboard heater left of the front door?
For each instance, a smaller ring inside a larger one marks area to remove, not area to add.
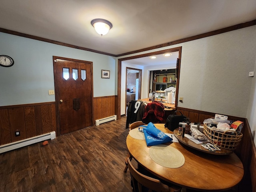
[[[52,131],[50,133],[46,133],[43,135],[39,135],[39,136],[34,136],[28,139],[24,139],[24,140],[20,140],[20,141],[16,141],[16,142],[12,142],[12,143],[8,143],[8,144],[4,144],[0,146],[0,154],[10,151],[10,150],[14,150],[14,149],[18,149],[24,146],[28,146],[34,143],[38,143],[44,140],[48,140],[48,139],[55,139],[56,138],[56,133],[55,131]]]

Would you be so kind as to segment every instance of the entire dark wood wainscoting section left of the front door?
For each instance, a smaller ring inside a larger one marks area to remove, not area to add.
[[[57,133],[55,102],[0,107],[0,145],[52,131]]]

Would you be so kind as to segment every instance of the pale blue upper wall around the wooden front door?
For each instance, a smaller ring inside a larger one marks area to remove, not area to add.
[[[94,97],[117,94],[116,58],[0,32],[0,54],[14,66],[0,67],[0,106],[55,101],[52,56],[93,62]],[[110,79],[101,70],[110,70]]]

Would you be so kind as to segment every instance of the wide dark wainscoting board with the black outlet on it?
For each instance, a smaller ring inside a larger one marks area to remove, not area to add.
[[[24,116],[24,107],[9,108],[10,132],[12,142],[26,139],[26,124]],[[15,131],[20,131],[20,136],[15,136]]]

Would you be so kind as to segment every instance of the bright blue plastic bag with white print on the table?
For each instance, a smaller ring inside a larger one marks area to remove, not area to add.
[[[143,127],[143,129],[140,127]],[[141,125],[140,127],[139,130],[144,132],[147,146],[159,145],[172,141],[172,138],[156,128],[152,122],[148,125]]]

